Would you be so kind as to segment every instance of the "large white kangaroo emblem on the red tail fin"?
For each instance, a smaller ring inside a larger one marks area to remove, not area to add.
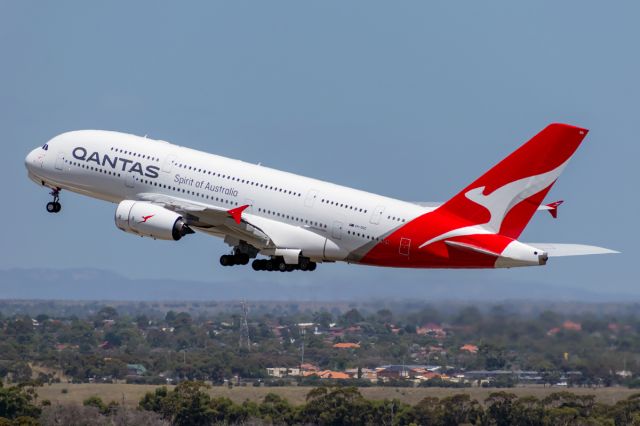
[[[521,201],[537,194],[555,182],[568,162],[569,160],[565,161],[549,172],[509,182],[488,195],[483,194],[485,190],[484,186],[470,189],[465,192],[465,197],[487,209],[489,211],[489,221],[476,225],[463,226],[461,228],[442,233],[428,241],[425,241],[419,248],[423,248],[437,241],[442,241],[446,238],[497,233],[500,230],[502,221],[506,217],[507,213],[509,213],[509,211]]]

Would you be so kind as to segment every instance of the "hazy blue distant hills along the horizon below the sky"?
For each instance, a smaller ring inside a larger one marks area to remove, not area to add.
[[[262,279],[267,275],[261,276]],[[275,277],[274,277],[275,278]],[[510,281],[353,282],[332,279],[322,284],[268,281],[188,281],[129,279],[99,269],[0,270],[1,299],[53,300],[270,300],[270,301],[500,301],[549,300],[632,302],[640,296],[595,293],[548,284]]]

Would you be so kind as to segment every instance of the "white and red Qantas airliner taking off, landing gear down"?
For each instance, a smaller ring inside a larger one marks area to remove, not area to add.
[[[312,271],[320,262],[401,268],[509,268],[549,257],[614,253],[518,237],[587,130],[551,124],[449,201],[400,201],[261,165],[126,133],[80,130],[54,137],[26,159],[51,189],[47,211],[68,190],[117,204],[125,232],[180,240],[223,238],[224,266]],[[460,170],[456,170],[460,172]],[[258,256],[262,256],[258,258]]]

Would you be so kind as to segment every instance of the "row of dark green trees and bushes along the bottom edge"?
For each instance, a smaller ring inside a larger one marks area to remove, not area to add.
[[[468,394],[427,397],[415,405],[369,400],[354,387],[318,387],[292,405],[270,393],[262,401],[235,403],[211,396],[208,385],[185,381],[148,392],[135,409],[87,398],[82,406],[37,401],[33,387],[0,387],[0,425],[637,425],[640,394],[615,404],[593,395],[556,392],[543,399],[500,391],[484,401]]]

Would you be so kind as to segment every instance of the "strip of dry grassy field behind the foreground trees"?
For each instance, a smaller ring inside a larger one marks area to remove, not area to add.
[[[127,384],[66,384],[57,383],[53,385],[45,385],[38,389],[39,399],[48,399],[56,404],[82,403],[89,396],[97,395],[103,401],[117,401],[129,406],[136,406],[142,396],[149,391],[153,391],[158,386],[153,385],[127,385]],[[67,393],[63,393],[63,389]],[[224,386],[214,386],[209,392],[212,396],[226,396],[234,402],[242,402],[246,399],[259,401],[270,392],[279,394],[287,398],[293,404],[302,404],[305,401],[307,392],[312,389],[310,387],[234,387],[227,388]],[[537,398],[544,398],[552,392],[568,390],[579,395],[595,395],[598,402],[606,404],[614,404],[615,402],[626,399],[630,395],[637,393],[637,390],[623,387],[609,388],[544,388],[542,386],[517,387],[510,389],[491,389],[491,388],[390,388],[390,387],[370,387],[361,388],[360,392],[368,399],[391,399],[397,398],[409,404],[415,404],[422,398],[427,396],[445,397],[449,395],[465,393],[472,398],[482,402],[495,391],[507,391],[515,393],[518,396],[532,395]]]

